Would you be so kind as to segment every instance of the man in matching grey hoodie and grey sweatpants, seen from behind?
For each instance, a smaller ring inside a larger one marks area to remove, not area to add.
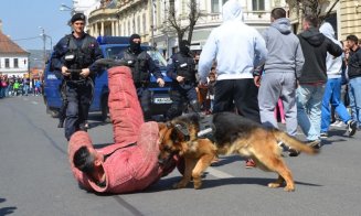
[[[270,21],[270,26],[264,33],[268,55],[262,79],[257,73],[254,74],[255,84],[259,86],[261,121],[266,127],[278,128],[275,109],[280,99],[285,110],[287,133],[295,137],[298,127],[297,79],[301,76],[305,58],[298,37],[291,32],[286,11],[282,8],[273,9]],[[289,155],[296,156],[298,152],[290,149]]]

